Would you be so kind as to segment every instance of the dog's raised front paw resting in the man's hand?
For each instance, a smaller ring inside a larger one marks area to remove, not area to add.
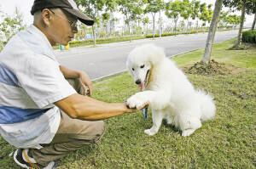
[[[143,108],[148,103],[148,98],[145,93],[136,93],[131,98],[127,99],[127,105],[132,109]]]

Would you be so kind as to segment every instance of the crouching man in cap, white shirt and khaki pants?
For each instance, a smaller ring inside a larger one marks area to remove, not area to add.
[[[55,160],[102,138],[100,120],[137,110],[82,95],[85,86],[93,92],[90,77],[56,60],[51,46],[67,45],[78,32],[77,20],[94,23],[73,0],[35,0],[31,13],[33,25],[0,54],[0,133],[19,148],[19,166],[55,168]],[[65,78],[79,80],[73,88]]]

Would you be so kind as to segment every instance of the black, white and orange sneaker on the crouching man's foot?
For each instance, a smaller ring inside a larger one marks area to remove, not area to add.
[[[48,166],[39,165],[32,157],[28,155],[28,149],[16,149],[14,160],[17,165],[26,169],[55,169],[55,161],[51,161]]]

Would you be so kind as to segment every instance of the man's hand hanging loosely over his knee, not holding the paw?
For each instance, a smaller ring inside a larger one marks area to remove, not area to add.
[[[81,83],[84,89],[84,94],[92,96],[93,85],[92,85],[92,82],[90,81],[90,76],[88,76],[85,72],[81,71],[79,73],[79,82]]]

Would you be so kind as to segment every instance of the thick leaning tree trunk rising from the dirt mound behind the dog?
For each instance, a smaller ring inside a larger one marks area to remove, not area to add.
[[[218,27],[218,18],[219,18],[219,14],[220,14],[220,11],[221,11],[221,8],[222,8],[223,1],[224,0],[216,0],[216,2],[215,2],[215,8],[214,8],[214,12],[213,12],[213,17],[212,17],[212,22],[211,22],[211,25],[210,25],[210,29],[209,29],[209,32],[208,32],[205,53],[204,53],[204,56],[202,58],[202,61],[206,64],[208,64],[211,60],[212,44],[213,44],[213,40],[214,40],[214,37],[215,37],[215,32],[216,32],[217,27]]]

